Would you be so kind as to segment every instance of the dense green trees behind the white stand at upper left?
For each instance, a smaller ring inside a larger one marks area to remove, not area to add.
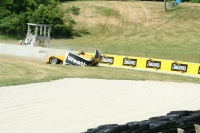
[[[26,23],[50,24],[53,37],[71,37],[75,21],[69,13],[79,14],[73,7],[67,12],[59,8],[58,0],[2,0],[0,5],[0,34],[21,37]],[[66,15],[68,13],[68,15]]]

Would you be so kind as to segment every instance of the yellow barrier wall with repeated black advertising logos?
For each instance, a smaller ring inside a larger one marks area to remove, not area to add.
[[[151,59],[151,58],[140,58],[132,56],[118,56],[118,55],[103,55],[99,66],[113,66],[120,68],[139,68],[144,70],[155,70],[164,72],[174,73],[186,73],[200,76],[200,64],[162,60],[162,59]]]

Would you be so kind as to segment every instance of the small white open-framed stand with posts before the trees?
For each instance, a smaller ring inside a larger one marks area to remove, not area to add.
[[[47,47],[50,41],[50,25],[27,23],[28,31],[25,39],[25,45],[44,47],[44,42],[47,41]],[[33,31],[31,29],[34,29]],[[37,43],[39,40],[39,43]]]

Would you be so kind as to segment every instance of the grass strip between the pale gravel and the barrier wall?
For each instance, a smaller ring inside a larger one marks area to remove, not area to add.
[[[200,83],[200,78],[105,67],[50,65],[27,58],[0,55],[0,86],[48,82],[62,78],[159,80]]]

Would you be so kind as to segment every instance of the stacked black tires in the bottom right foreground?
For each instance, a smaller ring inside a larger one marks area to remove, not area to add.
[[[195,133],[194,124],[200,125],[200,110],[171,111],[165,116],[151,117],[144,121],[127,122],[124,125],[101,125],[82,133],[177,133],[177,128],[187,129],[188,127],[190,129],[188,133]]]

